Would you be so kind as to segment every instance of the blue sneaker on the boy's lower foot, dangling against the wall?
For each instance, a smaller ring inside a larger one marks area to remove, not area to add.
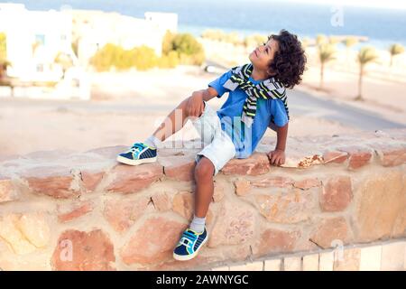
[[[198,233],[191,228],[187,228],[178,245],[173,250],[173,258],[179,261],[187,261],[198,255],[203,245],[208,241],[208,231],[206,227],[202,233]]]

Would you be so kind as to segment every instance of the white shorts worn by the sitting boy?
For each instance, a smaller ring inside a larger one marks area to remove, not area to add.
[[[216,175],[226,163],[235,157],[235,145],[230,136],[221,129],[217,112],[204,101],[205,108],[200,117],[192,120],[193,126],[204,143],[204,148],[196,155],[196,163],[204,155],[214,164]]]

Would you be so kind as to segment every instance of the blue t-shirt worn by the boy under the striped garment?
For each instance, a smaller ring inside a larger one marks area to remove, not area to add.
[[[237,88],[231,91],[223,87],[223,84],[231,75],[231,70],[228,70],[218,79],[208,83],[208,86],[216,89],[217,98],[221,98],[224,93],[229,92],[226,102],[217,110],[217,116],[220,117],[221,128],[231,137],[235,144],[235,157],[244,159],[253,154],[256,145],[260,142],[266,128],[271,123],[272,117],[276,126],[285,126],[288,123],[288,115],[281,99],[258,98],[254,123],[251,127],[245,126],[241,121],[241,115],[245,98],[248,96],[243,89]],[[254,84],[263,81],[254,80],[251,77],[249,80]]]

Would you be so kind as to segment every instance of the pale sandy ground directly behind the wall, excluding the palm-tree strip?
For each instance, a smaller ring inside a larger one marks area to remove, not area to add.
[[[93,76],[97,83],[93,90],[94,100],[87,103],[0,99],[0,155],[52,149],[83,151],[142,141],[182,99],[189,97],[193,90],[206,88],[207,83],[217,77],[196,75],[198,69],[191,70],[97,74]],[[131,85],[135,79],[142,85]],[[159,85],[155,86],[157,79],[160,79]],[[149,89],[152,87],[154,89]],[[214,98],[209,105],[220,107],[225,100]],[[317,117],[294,117],[289,135],[348,131],[357,129]],[[266,135],[275,133],[269,130]],[[193,126],[187,123],[173,138],[197,136]]]

